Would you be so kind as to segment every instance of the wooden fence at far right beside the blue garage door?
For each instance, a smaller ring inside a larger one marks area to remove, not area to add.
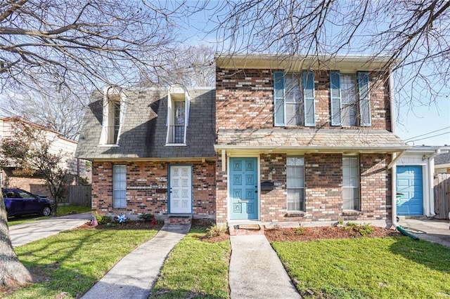
[[[435,175],[435,213],[437,219],[449,219],[450,173]]]

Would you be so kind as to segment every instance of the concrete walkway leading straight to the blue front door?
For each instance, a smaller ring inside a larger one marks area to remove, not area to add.
[[[234,298],[301,298],[264,234],[231,236],[229,284]]]

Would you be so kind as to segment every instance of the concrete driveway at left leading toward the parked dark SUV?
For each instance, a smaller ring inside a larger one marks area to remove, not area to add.
[[[9,227],[9,236],[13,247],[53,236],[64,230],[72,230],[92,219],[91,212],[78,213],[63,217],[25,222]]]

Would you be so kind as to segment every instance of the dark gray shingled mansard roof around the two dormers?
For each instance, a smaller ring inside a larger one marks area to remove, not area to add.
[[[165,146],[167,90],[141,88],[124,91],[127,112],[118,147],[100,147],[103,97],[96,93],[84,115],[76,157],[82,159],[214,157],[215,91],[189,89],[191,107],[187,146]]]

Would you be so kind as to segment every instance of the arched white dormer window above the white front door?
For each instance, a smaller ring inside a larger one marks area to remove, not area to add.
[[[171,86],[167,95],[166,145],[186,145],[190,98],[181,85]]]

